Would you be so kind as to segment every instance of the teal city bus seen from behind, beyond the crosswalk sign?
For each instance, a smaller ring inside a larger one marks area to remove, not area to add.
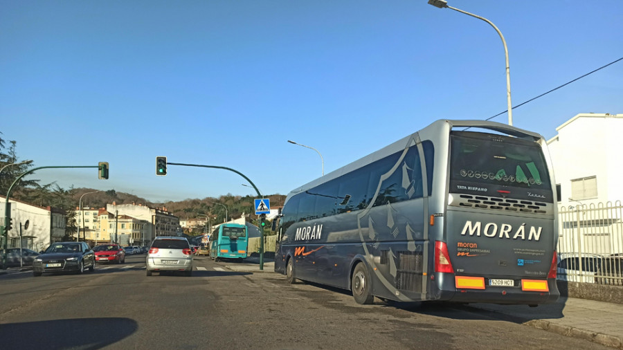
[[[210,257],[219,259],[239,259],[247,256],[249,234],[246,225],[239,223],[224,223],[212,233],[210,237]]]

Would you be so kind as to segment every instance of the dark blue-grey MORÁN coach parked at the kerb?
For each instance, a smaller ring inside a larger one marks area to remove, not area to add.
[[[554,302],[556,193],[539,134],[438,120],[291,191],[275,270],[359,304]]]

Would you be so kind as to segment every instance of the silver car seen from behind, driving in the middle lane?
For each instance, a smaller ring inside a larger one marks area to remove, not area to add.
[[[183,271],[192,275],[192,250],[186,238],[156,237],[145,259],[147,276],[154,271]]]

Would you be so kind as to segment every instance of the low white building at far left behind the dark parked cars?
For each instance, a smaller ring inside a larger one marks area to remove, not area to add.
[[[0,218],[3,220],[6,197],[0,196],[0,202]],[[66,225],[64,211],[37,207],[14,199],[9,199],[9,203],[12,229],[8,231],[8,248],[19,248],[20,235],[22,248],[37,252],[48,248],[53,242],[62,241]]]

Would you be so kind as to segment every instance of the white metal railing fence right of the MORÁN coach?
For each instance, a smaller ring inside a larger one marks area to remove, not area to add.
[[[558,279],[623,286],[623,205],[570,205],[559,210]]]

